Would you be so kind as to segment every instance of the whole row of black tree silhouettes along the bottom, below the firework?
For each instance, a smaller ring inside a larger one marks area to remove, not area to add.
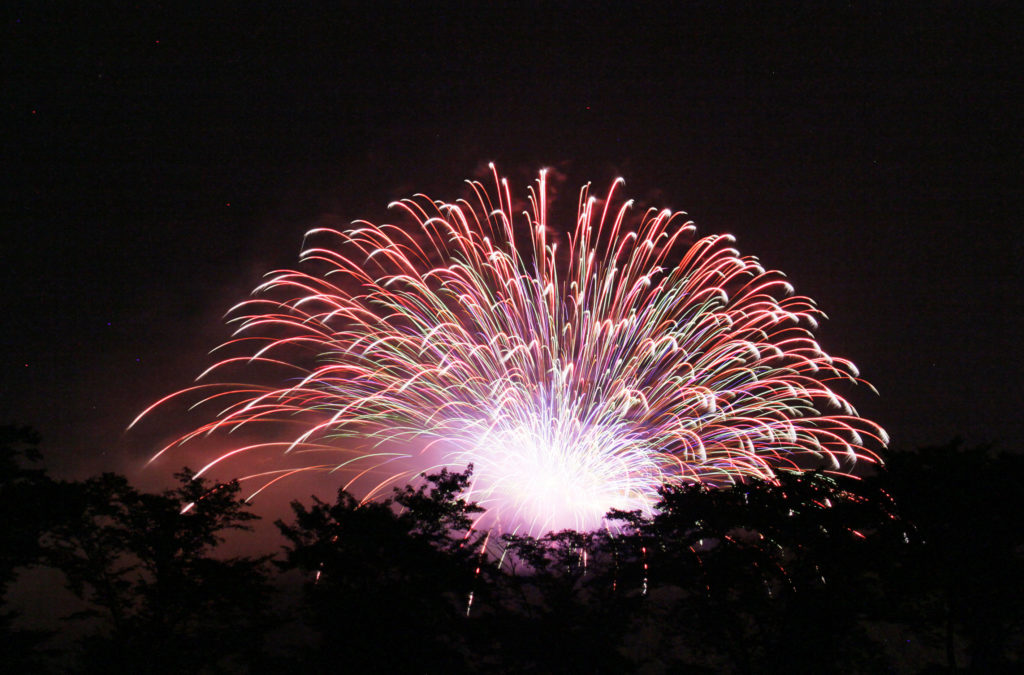
[[[0,615],[5,672],[1018,672],[1019,455],[889,453],[878,476],[666,490],[611,532],[490,536],[469,471],[390,499],[293,503],[283,547],[227,555],[256,516],[185,470],[142,493],[34,468],[0,431],[0,590],[60,573],[70,651]],[[297,580],[297,581],[296,581]]]

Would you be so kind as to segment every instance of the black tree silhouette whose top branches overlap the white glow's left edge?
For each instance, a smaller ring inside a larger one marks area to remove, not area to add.
[[[426,475],[418,489],[360,503],[339,491],[334,504],[293,502],[283,569],[307,575],[307,620],[319,637],[307,669],[353,672],[465,670],[469,594],[481,535],[479,507],[458,497],[469,472]]]

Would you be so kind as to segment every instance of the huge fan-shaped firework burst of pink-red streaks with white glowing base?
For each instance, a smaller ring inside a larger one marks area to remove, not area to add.
[[[248,476],[256,492],[342,469],[371,480],[372,499],[472,464],[468,497],[490,525],[538,534],[595,529],[611,508],[649,513],[665,483],[879,461],[869,447],[885,432],[833,388],[859,381],[856,368],[821,349],[822,313],[784,275],[730,236],[697,238],[685,214],[634,213],[622,179],[603,200],[581,191],[561,241],[545,172],[522,209],[492,174],[468,199],[393,204],[404,225],[311,230],[302,258],[315,271],[273,272],[231,310],[225,346],[243,355],[201,378],[240,364],[292,375],[185,390],[212,390],[221,412],[180,440],[269,421],[298,431],[201,473],[272,451],[300,463]],[[325,451],[341,459],[305,461]]]

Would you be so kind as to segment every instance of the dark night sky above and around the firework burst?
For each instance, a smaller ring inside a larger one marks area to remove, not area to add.
[[[0,421],[54,469],[131,470],[185,430],[124,433],[322,215],[452,198],[487,161],[520,191],[621,174],[734,234],[829,314],[897,445],[1018,446],[1011,4],[177,4],[3,13]]]

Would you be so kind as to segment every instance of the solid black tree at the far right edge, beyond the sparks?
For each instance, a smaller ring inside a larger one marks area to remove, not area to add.
[[[1024,457],[953,440],[891,452],[887,479],[914,525],[891,577],[897,619],[941,644],[954,670],[1016,672],[1024,629]]]

